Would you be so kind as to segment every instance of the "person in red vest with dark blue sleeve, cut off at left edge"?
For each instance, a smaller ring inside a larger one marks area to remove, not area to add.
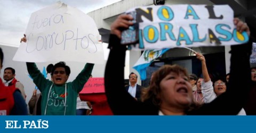
[[[0,70],[3,67],[3,60],[4,54],[0,48]],[[15,86],[5,86],[0,78],[0,116],[27,114],[27,105],[20,90]]]

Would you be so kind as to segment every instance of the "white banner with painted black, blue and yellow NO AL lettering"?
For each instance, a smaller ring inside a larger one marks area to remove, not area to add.
[[[139,45],[133,49],[223,46],[245,43],[228,5],[162,5],[132,8],[139,22]]]

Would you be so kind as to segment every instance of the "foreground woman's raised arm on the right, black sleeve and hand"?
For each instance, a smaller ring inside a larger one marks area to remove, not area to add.
[[[250,35],[249,27],[234,19],[234,24],[239,32],[246,31]],[[204,104],[199,110],[191,114],[202,115],[236,115],[246,100],[250,90],[250,55],[252,41],[243,45],[231,46],[230,78],[227,91],[218,96],[209,104]],[[242,83],[242,84],[241,84]]]

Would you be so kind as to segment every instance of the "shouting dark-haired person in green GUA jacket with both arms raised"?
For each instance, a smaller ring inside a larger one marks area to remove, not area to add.
[[[26,37],[21,41],[26,42]],[[76,99],[89,79],[94,64],[87,63],[73,82],[67,82],[70,68],[59,62],[51,69],[51,78],[45,79],[35,63],[26,63],[29,75],[42,93],[42,115],[76,115]]]

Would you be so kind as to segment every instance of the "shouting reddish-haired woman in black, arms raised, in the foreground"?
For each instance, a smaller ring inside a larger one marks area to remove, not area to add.
[[[235,115],[242,109],[245,95],[249,90],[251,43],[231,46],[228,86],[231,89],[218,96],[211,103],[195,106],[187,71],[177,65],[164,65],[159,68],[155,72],[149,88],[142,93],[142,102],[135,100],[127,91],[122,89],[124,87],[126,46],[120,45],[121,29],[127,29],[132,25],[131,20],[130,15],[122,14],[111,24],[108,47],[110,53],[105,69],[105,91],[114,114]],[[250,35],[250,30],[245,23],[239,19],[234,19],[234,24],[237,26],[237,31],[247,31],[247,34]]]

